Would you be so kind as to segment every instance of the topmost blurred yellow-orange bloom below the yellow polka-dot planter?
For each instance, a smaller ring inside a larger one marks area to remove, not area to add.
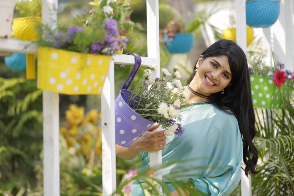
[[[78,126],[83,122],[85,110],[75,104],[69,105],[69,110],[65,112],[65,118],[69,126]]]

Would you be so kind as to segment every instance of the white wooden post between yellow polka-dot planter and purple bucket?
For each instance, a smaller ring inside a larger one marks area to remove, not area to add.
[[[101,95],[102,114],[102,187],[103,195],[116,190],[114,61],[110,61]]]

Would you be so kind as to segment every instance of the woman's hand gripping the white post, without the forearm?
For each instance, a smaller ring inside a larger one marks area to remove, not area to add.
[[[154,131],[159,127],[159,124],[152,125],[139,137],[130,148],[136,151],[154,152],[163,150],[166,147],[166,136],[164,130]]]

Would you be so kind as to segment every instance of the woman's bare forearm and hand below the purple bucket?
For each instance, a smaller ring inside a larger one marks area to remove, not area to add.
[[[166,136],[164,130],[153,131],[159,124],[152,125],[141,137],[134,141],[129,147],[122,147],[116,144],[116,155],[119,158],[131,160],[141,151],[153,152],[163,150],[166,147]]]

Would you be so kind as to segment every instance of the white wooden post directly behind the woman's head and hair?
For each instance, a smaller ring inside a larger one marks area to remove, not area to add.
[[[236,5],[236,37],[238,45],[247,54],[247,35],[246,35],[246,4],[245,0],[235,0]],[[242,161],[243,162],[243,161]],[[251,196],[251,178],[246,177],[241,170],[241,195]]]

